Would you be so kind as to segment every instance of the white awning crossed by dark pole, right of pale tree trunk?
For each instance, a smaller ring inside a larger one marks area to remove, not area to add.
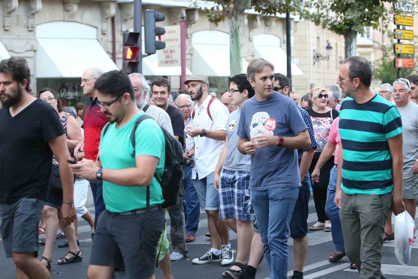
[[[270,61],[274,66],[274,72],[280,74],[287,74],[287,55],[280,46],[254,46],[254,59],[264,58]],[[292,76],[301,76],[303,72],[292,61]]]

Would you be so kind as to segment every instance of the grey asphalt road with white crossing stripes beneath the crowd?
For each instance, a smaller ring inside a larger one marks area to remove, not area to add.
[[[91,191],[87,199],[87,208],[94,217],[94,206]],[[418,208],[417,208],[418,209]],[[417,210],[418,212],[418,210]],[[311,200],[309,202],[309,217],[308,225],[313,225],[316,222],[316,212],[314,207],[314,199],[311,193]],[[170,231],[170,220],[167,220],[168,232]],[[415,227],[418,228],[418,218],[415,219]],[[89,257],[91,253],[91,231],[90,226],[85,220],[79,218],[79,240],[80,250],[82,251],[83,261],[78,263],[71,263],[66,265],[57,265],[56,261],[65,256],[68,251],[66,248],[54,247],[52,252],[52,278],[59,279],[85,279],[87,277],[87,268],[89,264]],[[210,248],[210,239],[204,234],[207,233],[207,217],[204,211],[201,211],[199,229],[196,233],[196,241],[187,243],[189,254],[185,259],[179,261],[171,261],[171,270],[176,279],[220,279],[222,272],[229,266],[222,266],[220,263],[212,264],[193,264],[192,259],[202,256]],[[234,250],[237,249],[237,235],[229,231],[231,245]],[[418,233],[416,233],[418,234]],[[416,235],[415,234],[415,235]],[[168,237],[170,233],[168,233]],[[43,237],[41,235],[40,237]],[[170,240],[170,239],[169,239]],[[57,240],[56,244],[61,243],[63,239]],[[293,240],[289,239],[289,264],[288,264],[288,278],[293,275],[293,268],[295,261],[293,257]],[[39,247],[39,255],[42,254],[44,246]],[[171,246],[170,246],[170,249]],[[172,251],[172,250],[171,250]],[[341,261],[330,263],[328,261],[329,255],[335,251],[332,243],[332,235],[324,230],[313,231],[308,233],[308,255],[306,257],[305,266],[303,270],[303,278],[331,278],[331,279],[354,279],[359,278],[356,270],[349,269],[350,261],[344,257]],[[0,279],[15,278],[15,265],[13,259],[6,259],[3,241],[0,239]],[[408,266],[399,264],[395,257],[394,241],[388,241],[383,244],[382,250],[382,272],[387,279],[408,278],[418,279],[418,241],[415,239],[411,252],[411,262]],[[263,260],[257,270],[257,279],[268,279],[269,270],[267,262]],[[118,271],[116,273],[117,279],[125,279],[125,271]],[[155,269],[155,277],[162,278],[161,269]]]

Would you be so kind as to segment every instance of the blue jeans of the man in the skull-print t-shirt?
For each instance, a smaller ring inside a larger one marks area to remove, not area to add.
[[[270,279],[286,279],[288,271],[288,227],[298,198],[298,187],[250,191],[257,216]]]

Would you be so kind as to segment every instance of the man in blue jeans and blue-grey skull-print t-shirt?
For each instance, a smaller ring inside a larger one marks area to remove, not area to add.
[[[251,154],[250,200],[270,278],[285,278],[288,226],[301,186],[296,149],[309,148],[311,140],[293,100],[273,91],[273,64],[252,60],[247,78],[255,97],[241,109],[238,149]]]

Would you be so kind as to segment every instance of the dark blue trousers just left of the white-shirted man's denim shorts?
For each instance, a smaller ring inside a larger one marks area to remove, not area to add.
[[[199,217],[200,203],[197,197],[196,189],[191,179],[191,166],[187,165],[184,173],[184,217],[186,218],[186,233],[196,234]]]

